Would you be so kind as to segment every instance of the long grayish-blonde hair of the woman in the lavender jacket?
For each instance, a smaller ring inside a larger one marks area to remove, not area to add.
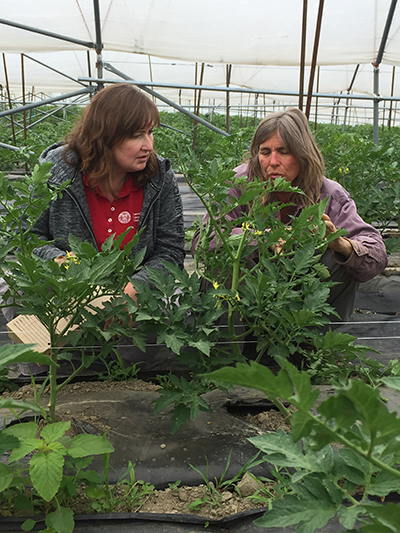
[[[299,109],[271,113],[258,125],[250,146],[249,176],[263,177],[258,159],[260,145],[277,133],[284,147],[297,159],[300,166],[299,175],[293,185],[302,189],[306,196],[293,193],[289,202],[309,206],[319,201],[325,165],[314,137],[308,125],[306,115]],[[263,198],[263,204],[270,201],[269,195]]]

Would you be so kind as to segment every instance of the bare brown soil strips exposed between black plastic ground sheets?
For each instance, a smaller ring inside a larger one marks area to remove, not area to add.
[[[37,388],[40,385],[36,385]],[[142,380],[132,381],[104,381],[104,382],[78,382],[65,386],[60,392],[60,395],[73,396],[74,394],[101,390],[136,390],[136,391],[156,391],[157,385],[151,382]],[[46,394],[46,389],[43,394]],[[24,385],[17,391],[7,391],[3,394],[3,398],[12,397],[14,399],[27,399],[33,396],[33,385]],[[68,418],[68,414],[65,418]],[[274,410],[259,413],[257,415],[247,415],[247,420],[260,427],[263,431],[275,431],[282,428],[284,431],[290,431],[290,426],[285,422],[283,416]],[[72,420],[73,424],[77,421]],[[79,416],[79,423],[84,424],[90,422],[93,425],[98,424],[98,421],[93,420],[93,417],[82,413]],[[79,432],[79,428],[76,428]],[[108,428],[101,427],[102,431]],[[146,480],[144,480],[146,482]],[[217,482],[217,481],[216,481]],[[245,474],[242,480],[238,483],[237,488],[229,487],[225,491],[220,491],[215,487],[213,482],[208,485],[180,486],[177,480],[174,486],[170,486],[164,490],[154,490],[150,494],[145,494],[143,497],[132,497],[132,494],[139,493],[142,490],[142,483],[137,482],[134,487],[128,484],[114,487],[114,503],[111,512],[142,512],[142,513],[185,513],[202,516],[205,518],[223,518],[225,516],[233,515],[242,511],[249,511],[266,507],[268,500],[273,494],[272,482],[261,482],[255,480],[251,475]],[[70,502],[71,508],[78,514],[90,514],[93,511],[91,505],[93,500],[89,500],[84,493],[84,487],[79,491],[78,497]],[[197,504],[194,504],[197,502]],[[100,506],[101,500],[98,500]],[[104,508],[102,512],[110,512],[110,509]],[[0,509],[1,515],[1,509]]]

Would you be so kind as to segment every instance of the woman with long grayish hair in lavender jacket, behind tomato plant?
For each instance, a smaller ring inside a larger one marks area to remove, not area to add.
[[[328,303],[342,320],[348,320],[360,282],[372,279],[387,266],[385,245],[380,233],[357,213],[349,193],[337,182],[324,176],[324,161],[310,131],[308,120],[299,109],[271,113],[264,118],[253,136],[250,157],[235,169],[236,176],[255,176],[271,183],[278,177],[291,182],[304,194],[295,192],[267,193],[262,204],[282,204],[276,216],[285,225],[298,217],[302,208],[329,198],[323,220],[326,233],[337,228],[348,231],[346,237],[337,237],[328,245],[321,262],[330,272],[330,280],[337,282],[331,288]],[[240,189],[230,194],[240,198]],[[248,214],[248,206],[239,206],[229,214],[235,220]],[[204,223],[207,217],[204,219]],[[235,228],[237,231],[241,229]],[[199,232],[194,237],[192,250],[197,245]]]

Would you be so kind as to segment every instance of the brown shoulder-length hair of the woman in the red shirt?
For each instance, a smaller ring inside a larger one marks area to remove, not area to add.
[[[96,94],[66,136],[64,159],[90,175],[91,187],[106,183],[112,190],[112,149],[137,131],[159,124],[156,105],[142,91],[129,83],[111,85]],[[71,152],[78,154],[78,161]],[[157,156],[151,152],[146,167],[135,173],[135,183],[143,186],[157,172]]]

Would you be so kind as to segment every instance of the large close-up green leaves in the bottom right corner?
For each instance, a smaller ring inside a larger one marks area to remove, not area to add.
[[[398,531],[398,506],[370,500],[400,490],[400,419],[388,410],[377,389],[350,380],[318,404],[319,391],[309,376],[290,363],[276,376],[252,362],[207,377],[261,390],[293,406],[291,434],[278,430],[249,439],[264,460],[294,469],[288,474],[291,490],[273,501],[255,522],[258,526],[297,525],[298,533],[313,533],[337,516],[347,530],[355,531],[358,521],[361,532]],[[388,378],[387,385],[391,384],[398,390],[398,378]],[[361,499],[354,497],[357,487],[363,489]]]

